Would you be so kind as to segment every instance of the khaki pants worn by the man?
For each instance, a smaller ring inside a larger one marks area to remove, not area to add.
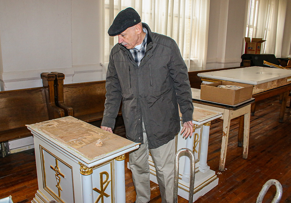
[[[143,125],[143,144],[129,154],[129,166],[136,191],[136,203],[150,201],[150,167],[148,164],[148,140]],[[150,149],[155,162],[157,180],[162,197],[162,203],[173,203],[175,139],[156,148]]]

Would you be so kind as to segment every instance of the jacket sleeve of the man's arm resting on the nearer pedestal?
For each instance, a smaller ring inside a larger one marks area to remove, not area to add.
[[[121,102],[121,87],[116,73],[113,56],[110,53],[109,64],[106,73],[106,100],[101,126],[114,128],[115,119]]]

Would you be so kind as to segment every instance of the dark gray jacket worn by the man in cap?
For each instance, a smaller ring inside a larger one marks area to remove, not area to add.
[[[132,54],[116,44],[109,56],[106,101],[102,126],[113,128],[122,100],[122,115],[129,140],[143,143],[142,120],[149,148],[174,139],[182,121],[191,121],[193,104],[188,71],[180,50],[170,37],[148,30],[144,58],[138,66]]]

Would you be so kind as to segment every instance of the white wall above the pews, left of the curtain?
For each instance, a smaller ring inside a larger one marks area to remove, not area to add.
[[[1,90],[40,87],[40,73],[65,83],[102,80],[101,0],[0,0]]]

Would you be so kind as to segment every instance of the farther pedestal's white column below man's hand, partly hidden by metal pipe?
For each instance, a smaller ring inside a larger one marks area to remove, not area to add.
[[[193,146],[194,146],[195,127],[198,127],[198,125],[194,124],[193,133],[192,133],[191,137],[188,136],[186,139],[186,148],[188,148],[191,151],[193,151]],[[187,182],[187,183],[190,182],[190,173],[191,173],[190,158],[187,155],[185,155],[184,171],[183,171],[183,175],[182,175],[182,180],[184,182]]]

